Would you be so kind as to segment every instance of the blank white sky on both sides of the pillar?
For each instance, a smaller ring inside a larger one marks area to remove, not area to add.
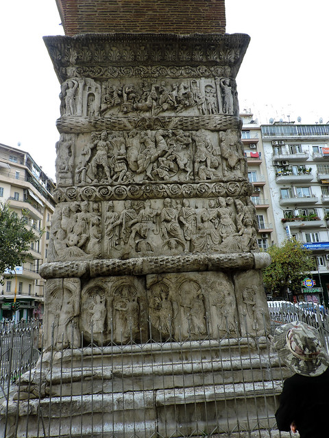
[[[229,34],[252,37],[237,77],[241,110],[261,123],[329,121],[329,1],[226,0],[226,21]],[[51,178],[60,86],[42,36],[63,34],[55,0],[0,7],[0,143],[20,142]]]

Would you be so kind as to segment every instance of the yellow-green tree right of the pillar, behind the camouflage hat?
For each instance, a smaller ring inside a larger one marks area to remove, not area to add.
[[[288,288],[293,294],[299,293],[302,280],[315,269],[312,252],[304,248],[302,242],[289,239],[282,246],[271,246],[267,253],[272,263],[263,270],[265,286],[271,289],[273,296],[286,298]]]

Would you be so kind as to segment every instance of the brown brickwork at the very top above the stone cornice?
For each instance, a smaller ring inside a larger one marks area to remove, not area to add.
[[[225,34],[224,0],[56,0],[66,36]]]

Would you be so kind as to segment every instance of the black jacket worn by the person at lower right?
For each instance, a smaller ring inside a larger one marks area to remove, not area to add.
[[[276,411],[279,430],[295,422],[300,438],[329,436],[329,368],[316,377],[294,374],[284,381]]]

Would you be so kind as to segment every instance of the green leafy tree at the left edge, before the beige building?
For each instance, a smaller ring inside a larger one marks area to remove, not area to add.
[[[12,271],[32,257],[27,251],[37,238],[32,227],[27,228],[24,214],[20,218],[8,204],[0,204],[0,284],[5,270]]]

